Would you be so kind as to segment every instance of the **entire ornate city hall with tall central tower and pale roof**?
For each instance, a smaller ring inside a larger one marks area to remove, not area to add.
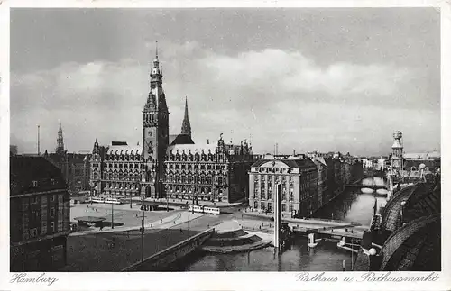
[[[247,141],[226,143],[222,134],[216,144],[195,144],[188,101],[180,133],[170,134],[158,52],[150,77],[141,144],[94,143],[90,160],[93,194],[222,202],[247,197],[247,172],[255,161],[252,146]]]

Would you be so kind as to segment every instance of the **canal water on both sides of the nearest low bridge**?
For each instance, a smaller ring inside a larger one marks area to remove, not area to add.
[[[383,185],[382,178],[365,178],[362,185]],[[334,201],[320,209],[314,217],[343,220],[369,225],[373,214],[373,194],[360,188],[346,188]],[[384,197],[377,197],[378,205]],[[342,261],[350,269],[355,255],[336,247],[332,241],[321,241],[315,249],[308,250],[307,238],[297,236],[289,250],[275,254],[272,248],[245,253],[210,254],[193,253],[171,271],[341,271]]]

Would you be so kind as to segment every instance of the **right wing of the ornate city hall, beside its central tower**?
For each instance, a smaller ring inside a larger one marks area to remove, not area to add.
[[[164,186],[170,199],[235,202],[247,195],[247,171],[253,163],[246,141],[241,145],[173,144],[168,147]]]

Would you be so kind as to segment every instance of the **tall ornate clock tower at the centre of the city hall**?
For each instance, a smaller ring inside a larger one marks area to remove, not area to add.
[[[151,90],[143,109],[143,179],[141,194],[164,197],[164,159],[169,145],[169,111],[162,88],[158,47],[151,71]]]

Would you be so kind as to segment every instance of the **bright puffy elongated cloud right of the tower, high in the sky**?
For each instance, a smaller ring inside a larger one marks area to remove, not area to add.
[[[199,64],[223,86],[260,88],[276,94],[318,92],[331,97],[387,97],[412,77],[407,68],[387,64],[337,62],[320,67],[298,51],[273,49],[245,52],[237,57],[210,56],[200,59]]]

